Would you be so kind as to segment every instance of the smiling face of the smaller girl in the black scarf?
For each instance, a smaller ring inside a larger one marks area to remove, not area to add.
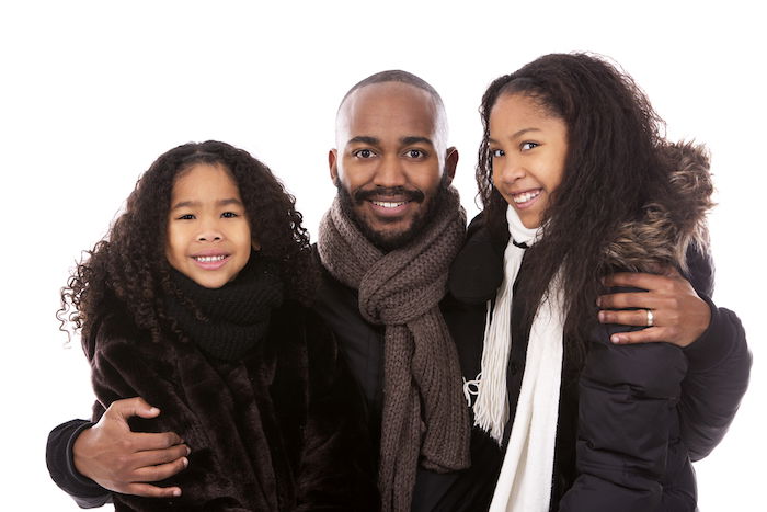
[[[198,163],[175,179],[165,243],[173,269],[220,288],[245,266],[252,244],[240,191],[225,167]]]

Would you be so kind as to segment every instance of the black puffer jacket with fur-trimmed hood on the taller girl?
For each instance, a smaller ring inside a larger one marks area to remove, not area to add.
[[[669,150],[678,152],[678,169],[687,173],[677,177],[680,186],[698,173],[708,180],[697,149]],[[621,243],[610,247],[610,261],[618,269],[648,270],[656,249],[684,250],[697,232],[703,203],[700,215],[692,213],[682,227],[660,217],[627,225]],[[451,268],[453,295],[472,304],[493,299],[505,244],[490,237],[481,215],[476,218]],[[609,335],[626,328],[600,326],[582,373],[562,376],[551,510],[695,510],[690,459],[707,455],[726,432],[747,387],[751,355],[737,317],[708,299],[713,288],[708,255],[691,244],[686,260],[688,280],[711,308],[710,326],[699,340],[684,350],[667,343],[614,345]],[[520,317],[518,305],[513,306],[510,426],[529,335]]]

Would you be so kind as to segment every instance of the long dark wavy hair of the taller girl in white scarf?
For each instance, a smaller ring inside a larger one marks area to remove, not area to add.
[[[631,77],[594,55],[546,55],[494,80],[480,106],[484,136],[477,184],[495,239],[508,236],[507,203],[493,186],[488,139],[491,111],[504,94],[533,99],[568,128],[562,182],[551,194],[542,236],[528,250],[515,295],[529,328],[549,282],[562,269],[564,334],[574,341],[565,343],[565,353],[569,362],[577,363],[596,323],[600,277],[615,271],[606,246],[623,223],[641,217],[644,205],[673,201],[662,150],[665,124]]]

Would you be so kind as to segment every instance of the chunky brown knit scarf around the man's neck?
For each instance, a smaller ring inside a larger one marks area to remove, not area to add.
[[[469,465],[458,354],[439,311],[466,213],[453,187],[437,208],[416,239],[386,254],[344,215],[337,197],[320,224],[322,264],[359,291],[367,321],[386,326],[378,473],[385,512],[410,510],[419,462],[439,473]]]

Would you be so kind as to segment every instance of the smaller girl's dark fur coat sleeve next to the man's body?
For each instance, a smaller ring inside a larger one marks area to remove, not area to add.
[[[308,407],[296,511],[379,510],[376,452],[362,390],[332,332],[311,311],[306,335]]]

